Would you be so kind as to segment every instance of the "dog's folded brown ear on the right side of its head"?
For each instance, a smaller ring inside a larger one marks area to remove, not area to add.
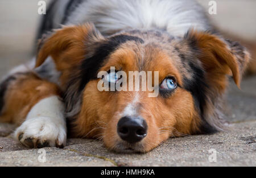
[[[243,71],[249,62],[250,55],[237,42],[224,40],[209,32],[191,30],[185,35],[192,48],[199,49],[197,58],[201,61],[209,84],[219,92],[226,86],[226,75],[232,75],[240,88]]]

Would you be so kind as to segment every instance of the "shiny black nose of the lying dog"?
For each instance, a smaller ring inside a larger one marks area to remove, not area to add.
[[[117,124],[118,135],[129,143],[136,143],[147,136],[147,123],[139,117],[123,117]]]

